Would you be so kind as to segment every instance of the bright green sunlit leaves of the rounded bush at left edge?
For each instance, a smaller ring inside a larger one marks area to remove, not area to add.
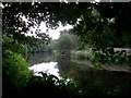
[[[22,87],[31,75],[28,63],[21,54],[5,50],[3,52],[3,81],[14,87]]]

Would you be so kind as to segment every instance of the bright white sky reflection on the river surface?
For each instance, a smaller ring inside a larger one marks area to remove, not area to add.
[[[29,70],[32,70],[35,73],[35,75],[40,75],[38,74],[39,72],[46,72],[59,77],[59,70],[57,64],[58,64],[57,62],[48,62],[48,63],[44,62],[39,64],[34,64],[33,66],[29,68]]]

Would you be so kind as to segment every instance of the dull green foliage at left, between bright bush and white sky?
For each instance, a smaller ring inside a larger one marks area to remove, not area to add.
[[[35,51],[39,47],[46,46],[46,44],[49,42],[49,40],[45,41],[43,39],[29,36],[24,38],[23,36],[23,40],[25,39],[26,41],[26,44],[23,44],[22,41],[20,42],[20,40],[17,41],[16,39],[14,39],[13,35],[7,32],[3,32],[2,38],[3,50],[10,49],[11,51],[21,53],[23,57],[26,57],[26,53]]]

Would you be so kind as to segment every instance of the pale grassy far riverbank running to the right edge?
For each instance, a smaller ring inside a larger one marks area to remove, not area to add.
[[[126,50],[128,52],[129,60],[122,57],[123,62],[116,62],[120,61],[118,58],[116,58],[116,61],[112,62],[106,62],[102,63],[97,61],[99,58],[93,58],[93,52],[92,49],[90,48],[87,51],[82,50],[82,51],[71,51],[71,59],[73,62],[81,63],[81,64],[87,64],[91,68],[95,68],[98,70],[108,70],[108,71],[122,71],[122,72],[128,72],[131,73],[131,64],[130,64],[130,53],[131,49],[124,49],[124,48],[115,48],[115,52],[117,51],[122,51]],[[100,58],[104,60],[105,58]],[[110,58],[109,58],[110,59]],[[127,60],[127,61],[126,61]]]

